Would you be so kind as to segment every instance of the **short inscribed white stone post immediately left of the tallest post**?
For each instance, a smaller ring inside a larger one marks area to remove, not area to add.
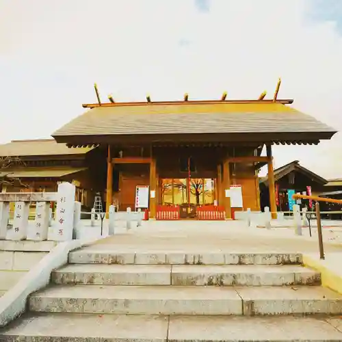
[[[47,239],[49,231],[49,202],[36,202],[36,216],[34,218],[34,226],[27,233],[27,239],[43,241]]]

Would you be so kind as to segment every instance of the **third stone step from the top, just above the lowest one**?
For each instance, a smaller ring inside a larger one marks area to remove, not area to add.
[[[31,295],[29,310],[146,315],[342,315],[342,295],[315,286],[56,285]]]

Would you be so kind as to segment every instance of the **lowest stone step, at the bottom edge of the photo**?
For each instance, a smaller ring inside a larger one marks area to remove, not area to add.
[[[62,328],[61,328],[62,327]],[[333,342],[338,317],[146,316],[49,313],[25,315],[0,330],[0,340],[69,342]]]

